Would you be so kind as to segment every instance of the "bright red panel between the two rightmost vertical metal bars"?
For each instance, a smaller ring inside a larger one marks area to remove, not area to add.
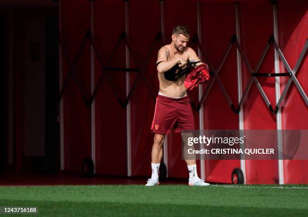
[[[241,4],[241,45],[247,59],[254,69],[257,65],[269,36],[273,34],[273,14],[271,4],[250,5]],[[250,80],[250,71],[242,64],[243,89]],[[259,72],[273,73],[274,58],[273,46],[265,56]],[[272,105],[275,105],[275,79],[274,77],[258,78],[265,94]],[[253,83],[244,103],[244,128],[245,130],[275,130],[276,116],[271,114]],[[248,184],[278,182],[278,163],[271,160],[247,160],[246,181]]]

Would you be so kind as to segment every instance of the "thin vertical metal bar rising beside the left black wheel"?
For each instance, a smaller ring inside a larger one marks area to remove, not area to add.
[[[95,42],[95,2],[90,2],[91,7],[91,37]],[[91,93],[93,93],[95,89],[95,51],[93,46],[91,45]],[[94,164],[94,174],[96,173],[96,139],[95,139],[95,98],[91,103],[91,158]]]

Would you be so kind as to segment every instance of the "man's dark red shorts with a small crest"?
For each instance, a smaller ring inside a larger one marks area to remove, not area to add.
[[[173,127],[176,133],[195,129],[189,97],[172,98],[158,95],[151,132],[168,135]]]

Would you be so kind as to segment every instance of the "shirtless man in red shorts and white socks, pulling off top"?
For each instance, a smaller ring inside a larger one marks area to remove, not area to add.
[[[152,175],[145,186],[159,184],[158,171],[163,158],[165,136],[170,133],[174,125],[176,125],[175,132],[194,130],[195,128],[190,100],[184,86],[185,76],[177,76],[181,69],[186,68],[188,61],[199,61],[194,67],[204,64],[200,61],[195,51],[187,47],[189,36],[190,31],[186,26],[178,25],[174,27],[171,44],[162,47],[158,53],[157,71],[160,91],[156,100],[151,126],[151,132],[155,134],[151,152]],[[209,185],[198,177],[196,160],[185,161],[189,171],[189,185]]]

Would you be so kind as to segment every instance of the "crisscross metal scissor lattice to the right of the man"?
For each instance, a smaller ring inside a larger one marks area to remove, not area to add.
[[[211,71],[211,74],[214,75],[214,78],[210,79],[210,83],[207,86],[207,88],[205,89],[205,91],[204,91],[201,99],[197,103],[197,105],[195,105],[195,103],[192,103],[192,106],[193,106],[193,108],[195,110],[198,111],[200,109],[201,105],[203,104],[203,102],[204,102],[206,96],[208,95],[208,93],[209,93],[209,91],[210,91],[210,89],[211,89],[211,87],[212,87],[212,85],[213,85],[215,80],[217,80],[218,85],[219,85],[220,89],[222,90],[223,95],[225,96],[225,98],[226,98],[230,108],[232,109],[233,112],[235,112],[237,114],[240,112],[241,107],[242,107],[242,105],[243,105],[243,103],[245,101],[245,98],[246,98],[246,96],[247,96],[247,94],[248,94],[248,92],[249,92],[253,82],[256,84],[256,86],[258,88],[258,91],[261,94],[264,102],[266,103],[266,105],[269,108],[270,112],[273,113],[273,114],[277,114],[277,112],[278,112],[278,110],[279,110],[279,108],[281,106],[281,103],[282,103],[283,99],[285,98],[286,92],[288,91],[288,88],[290,87],[292,81],[294,82],[296,88],[298,89],[302,99],[305,101],[306,105],[308,106],[307,95],[305,94],[304,90],[300,86],[300,84],[299,84],[299,82],[298,82],[298,80],[296,79],[296,76],[295,76],[295,74],[297,72],[297,69],[300,66],[300,64],[302,63],[303,57],[305,56],[305,53],[306,53],[306,50],[307,50],[307,47],[308,47],[308,40],[306,40],[305,45],[302,48],[302,51],[301,51],[301,53],[300,53],[300,55],[299,55],[299,57],[297,59],[297,63],[296,63],[296,65],[295,65],[293,70],[290,68],[290,66],[289,66],[288,62],[286,61],[283,53],[281,52],[277,42],[275,41],[273,35],[271,35],[269,37],[268,43],[267,43],[267,45],[266,45],[266,47],[264,49],[264,52],[262,53],[262,55],[261,55],[261,57],[260,57],[260,59],[258,61],[258,64],[256,65],[255,69],[252,69],[251,65],[249,64],[246,55],[244,54],[240,44],[237,41],[236,35],[233,35],[232,38],[230,39],[230,45],[227,47],[226,52],[223,55],[223,58],[220,61],[220,64],[218,65],[218,67],[216,69],[211,64],[209,58],[206,55],[206,52],[202,49],[202,45],[200,44],[197,36],[194,37],[193,43],[197,44],[197,47],[201,50],[202,55],[204,56],[206,62],[209,65],[209,70]],[[283,65],[285,66],[285,68],[288,71],[287,73],[264,73],[264,72],[259,72],[259,68],[260,68],[260,66],[261,66],[261,64],[262,64],[262,62],[264,60],[264,57],[266,56],[266,54],[267,54],[267,52],[268,52],[268,50],[269,50],[271,45],[273,45],[274,49],[278,52],[278,54],[279,54],[279,56],[280,56],[280,58],[281,58],[281,60],[283,62]],[[251,79],[248,82],[248,84],[246,85],[244,94],[243,94],[242,98],[240,99],[240,102],[239,102],[237,108],[235,107],[234,103],[230,99],[229,94],[225,90],[225,88],[223,86],[223,83],[221,82],[221,80],[219,79],[219,76],[218,76],[218,74],[220,72],[220,69],[221,69],[221,67],[222,67],[222,65],[223,65],[227,55],[229,54],[230,49],[232,48],[232,46],[236,46],[236,48],[240,52],[242,58],[244,59],[244,63],[247,66],[247,68],[249,69],[250,75],[251,75]],[[287,82],[287,84],[286,84],[286,86],[285,86],[285,88],[284,88],[284,90],[283,90],[283,92],[282,92],[282,94],[280,96],[280,99],[279,99],[278,103],[273,108],[273,106],[271,105],[271,103],[270,103],[268,97],[266,96],[264,90],[262,89],[262,86],[260,85],[257,77],[275,77],[275,76],[279,76],[279,77],[280,76],[289,76],[290,78],[289,78],[289,80],[288,80],[288,82]]]

